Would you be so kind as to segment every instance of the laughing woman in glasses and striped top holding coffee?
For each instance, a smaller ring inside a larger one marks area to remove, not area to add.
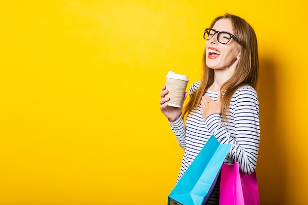
[[[185,150],[178,180],[212,134],[220,144],[232,144],[225,163],[229,159],[235,163],[236,159],[245,175],[254,172],[257,164],[260,127],[255,32],[244,19],[225,14],[205,29],[204,38],[204,73],[201,81],[190,87],[183,112],[183,105],[175,108],[165,104],[169,100],[165,86],[160,93],[160,110]],[[208,204],[218,203],[219,180]]]

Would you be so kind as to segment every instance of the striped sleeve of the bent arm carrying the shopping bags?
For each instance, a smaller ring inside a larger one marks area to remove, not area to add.
[[[219,114],[209,116],[205,123],[219,143],[232,145],[227,162],[239,162],[240,171],[249,175],[256,168],[260,142],[259,103],[253,88],[236,91],[231,100],[230,115],[234,119],[234,130],[227,129]]]

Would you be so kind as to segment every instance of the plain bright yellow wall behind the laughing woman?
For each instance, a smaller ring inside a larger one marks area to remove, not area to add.
[[[261,204],[307,204],[307,10],[304,0],[2,2],[0,204],[166,204],[183,151],[160,89],[169,70],[199,80],[203,31],[225,12],[259,42]]]

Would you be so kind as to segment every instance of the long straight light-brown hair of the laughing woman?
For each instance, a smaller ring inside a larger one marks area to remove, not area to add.
[[[227,121],[226,116],[228,115],[230,101],[235,91],[245,85],[256,89],[259,75],[259,59],[257,38],[252,27],[241,17],[225,14],[214,19],[210,28],[212,29],[220,19],[231,20],[234,35],[241,45],[241,58],[239,59],[234,74],[220,88],[221,116],[224,121]],[[204,68],[202,80],[196,92],[192,93],[184,108],[183,115],[185,117],[187,117],[189,111],[198,108],[202,95],[214,83],[214,70],[206,65],[206,50],[204,50],[202,66]]]

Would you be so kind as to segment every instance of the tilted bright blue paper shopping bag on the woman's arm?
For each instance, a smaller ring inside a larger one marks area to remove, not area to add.
[[[168,205],[205,205],[230,147],[229,144],[220,145],[212,135],[172,189]]]

